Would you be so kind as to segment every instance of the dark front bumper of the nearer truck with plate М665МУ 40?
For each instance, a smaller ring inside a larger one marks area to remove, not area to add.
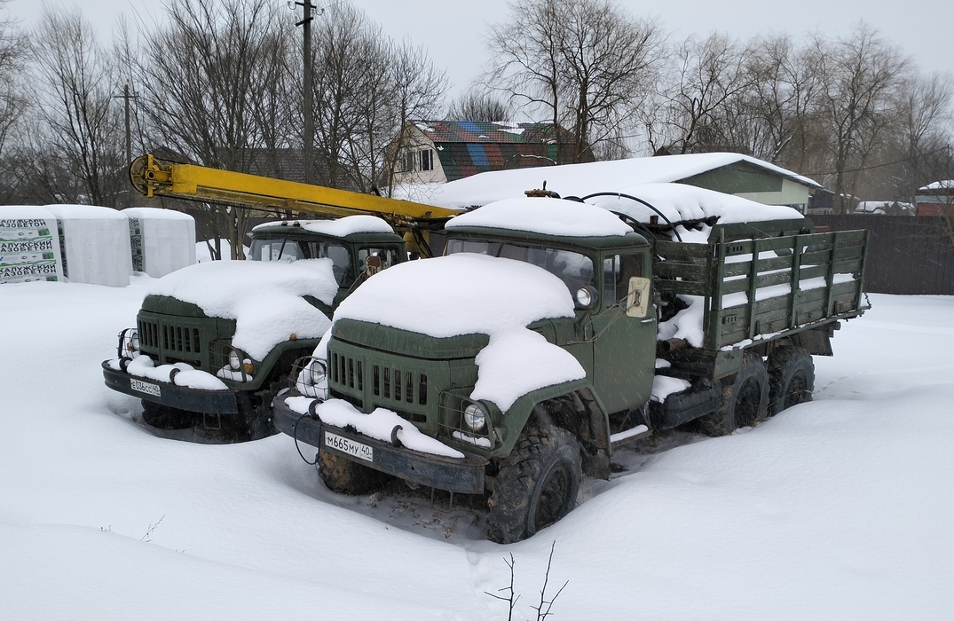
[[[297,442],[331,451],[363,466],[372,467],[386,474],[411,483],[435,487],[455,493],[484,493],[484,472],[487,460],[467,456],[464,458],[443,457],[409,450],[381,440],[369,438],[351,429],[342,429],[321,423],[307,414],[301,415],[277,398],[272,404],[272,422],[282,433],[292,436]],[[368,462],[324,444],[324,431],[347,438],[352,442],[370,446],[374,461]]]

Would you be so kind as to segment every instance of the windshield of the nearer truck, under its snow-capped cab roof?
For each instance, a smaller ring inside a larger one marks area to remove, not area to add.
[[[570,289],[570,293],[575,293],[580,287],[594,285],[592,259],[571,250],[484,239],[450,238],[447,240],[448,255],[461,252],[532,263],[563,280]]]

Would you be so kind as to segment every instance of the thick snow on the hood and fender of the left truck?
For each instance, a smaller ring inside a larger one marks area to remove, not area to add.
[[[236,321],[232,344],[256,360],[291,334],[318,339],[330,321],[302,296],[330,304],[338,293],[331,259],[212,261],[156,280],[151,295],[196,304],[209,317]]]

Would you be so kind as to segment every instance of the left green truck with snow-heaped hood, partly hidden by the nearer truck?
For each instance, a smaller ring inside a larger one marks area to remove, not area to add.
[[[268,404],[294,361],[315,349],[349,292],[407,253],[384,220],[353,216],[261,224],[248,259],[156,280],[136,327],[120,333],[103,374],[142,400],[146,423],[228,441],[274,433]]]

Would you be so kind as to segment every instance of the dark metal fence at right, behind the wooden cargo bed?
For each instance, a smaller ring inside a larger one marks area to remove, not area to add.
[[[954,244],[941,217],[812,216],[832,231],[867,229],[864,289],[898,295],[954,295]]]

